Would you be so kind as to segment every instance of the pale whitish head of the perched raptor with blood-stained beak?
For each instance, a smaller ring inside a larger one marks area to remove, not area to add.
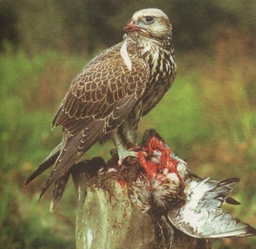
[[[170,36],[170,20],[160,9],[141,9],[132,16],[125,26],[127,33],[138,31],[139,34],[153,39]]]

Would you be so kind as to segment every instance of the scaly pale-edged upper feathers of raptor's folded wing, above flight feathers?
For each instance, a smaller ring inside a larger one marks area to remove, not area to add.
[[[110,118],[114,110],[118,112],[118,105],[140,98],[148,67],[140,59],[132,60],[132,64],[131,72],[122,58],[89,65],[72,84],[52,125],[76,134],[94,120]]]

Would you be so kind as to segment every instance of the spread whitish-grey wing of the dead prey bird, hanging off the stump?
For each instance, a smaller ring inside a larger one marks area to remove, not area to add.
[[[221,238],[249,236],[256,230],[246,223],[222,212],[221,206],[227,199],[238,178],[214,181],[206,178],[200,182],[190,180],[187,183],[187,199],[182,207],[168,212],[173,226],[197,238]]]

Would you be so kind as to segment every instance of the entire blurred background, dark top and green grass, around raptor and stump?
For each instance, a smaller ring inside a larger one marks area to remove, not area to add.
[[[37,203],[50,172],[26,178],[59,143],[53,115],[75,74],[116,44],[132,13],[164,10],[173,23],[178,75],[140,126],[155,128],[201,177],[241,177],[225,207],[256,226],[256,56],[254,0],[0,0],[0,245],[75,248],[75,190],[69,181],[55,213],[51,191]],[[109,157],[113,145],[86,153]],[[214,248],[255,248],[255,238]]]

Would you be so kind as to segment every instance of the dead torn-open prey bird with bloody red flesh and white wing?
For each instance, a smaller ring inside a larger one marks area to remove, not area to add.
[[[222,211],[225,202],[239,204],[229,196],[238,178],[201,179],[156,137],[142,149],[138,155],[145,172],[132,183],[130,198],[141,212],[157,215],[159,234],[173,234],[170,223],[184,234],[199,239],[256,234],[255,228]],[[170,236],[164,239],[166,245],[173,242]]]

